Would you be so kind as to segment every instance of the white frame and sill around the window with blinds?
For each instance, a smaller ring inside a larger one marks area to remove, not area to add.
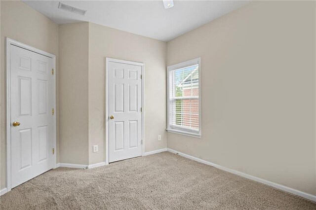
[[[170,96],[170,72],[173,70],[178,70],[181,68],[185,68],[185,67],[189,67],[189,66],[193,66],[193,65],[197,65],[198,64],[198,131],[195,132],[192,129],[186,129],[183,128],[181,126],[174,126],[174,125],[170,125],[170,120],[171,117],[170,115],[172,114],[170,111],[170,107],[171,107],[171,97]],[[195,137],[195,138],[201,138],[202,136],[202,118],[201,118],[201,58],[196,58],[196,59],[192,59],[189,61],[185,61],[179,64],[174,64],[171,66],[167,67],[167,132],[170,133],[175,133],[175,134],[181,134],[181,135],[185,135],[185,136],[190,136],[190,137]],[[178,128],[176,128],[178,127]]]

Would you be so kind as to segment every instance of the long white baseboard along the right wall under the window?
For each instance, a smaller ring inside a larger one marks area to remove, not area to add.
[[[197,162],[200,162],[200,163],[203,163],[203,164],[206,164],[206,165],[209,165],[209,166],[214,166],[215,168],[221,169],[223,171],[230,172],[230,173],[235,174],[235,175],[240,175],[242,177],[245,177],[245,178],[248,178],[248,179],[251,179],[251,180],[254,180],[254,181],[258,181],[260,183],[267,184],[267,185],[275,187],[277,189],[280,189],[280,190],[292,193],[294,195],[298,195],[298,196],[301,196],[303,198],[306,198],[306,199],[309,199],[309,200],[312,200],[312,201],[316,201],[316,196],[315,195],[312,195],[312,194],[309,194],[309,193],[306,193],[306,192],[302,192],[302,191],[299,191],[299,190],[296,190],[296,189],[293,189],[293,188],[290,188],[290,187],[287,187],[287,186],[284,186],[284,185],[281,185],[281,184],[277,184],[275,182],[268,181],[268,180],[265,180],[265,179],[262,179],[262,178],[259,178],[259,177],[253,176],[253,175],[244,174],[242,172],[238,172],[236,170],[229,169],[229,168],[217,165],[215,163],[211,163],[211,162],[208,162],[206,160],[202,160],[202,159],[193,157],[191,155],[187,155],[185,153],[178,152],[178,151],[170,149],[170,148],[167,148],[167,151],[171,152],[171,153],[174,153],[174,154],[178,153],[179,155],[181,155],[183,157],[186,157],[186,158],[189,158],[191,160],[195,160]]]

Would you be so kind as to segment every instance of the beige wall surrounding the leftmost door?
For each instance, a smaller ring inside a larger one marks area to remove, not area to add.
[[[1,4],[1,137],[0,137],[0,189],[5,187],[5,69],[4,69],[4,43],[9,37],[22,43],[31,45],[40,50],[56,55],[56,66],[58,66],[58,25],[47,17],[35,11],[22,1],[0,1]],[[58,79],[57,79],[58,90]],[[58,94],[57,94],[58,105]],[[58,114],[58,108],[57,108]],[[58,116],[58,115],[57,115]],[[57,117],[58,120],[58,117]],[[57,129],[58,135],[58,129]],[[57,136],[58,139],[58,136]],[[58,141],[57,141],[58,143]],[[58,162],[58,149],[57,149]]]

